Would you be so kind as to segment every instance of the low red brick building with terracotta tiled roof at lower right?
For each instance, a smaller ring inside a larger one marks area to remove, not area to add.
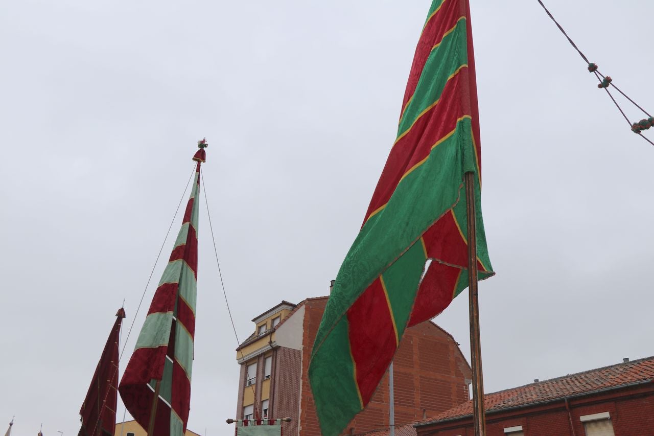
[[[654,436],[653,380],[654,356],[489,393],[487,436]],[[474,435],[472,401],[417,422],[415,431]]]

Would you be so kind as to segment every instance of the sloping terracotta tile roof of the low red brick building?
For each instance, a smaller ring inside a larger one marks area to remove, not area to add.
[[[591,369],[590,371],[568,374],[511,388],[504,391],[487,393],[484,395],[484,404],[487,412],[507,409],[509,407],[525,406],[557,398],[591,393],[606,388],[615,388],[625,384],[642,382],[654,379],[654,356],[634,360],[626,363],[611,365],[610,367]],[[425,424],[452,418],[459,418],[472,414],[472,401],[458,405],[427,420],[415,424]]]

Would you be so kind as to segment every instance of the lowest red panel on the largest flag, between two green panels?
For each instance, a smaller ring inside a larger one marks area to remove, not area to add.
[[[347,322],[356,365],[356,384],[367,405],[397,347],[395,328],[379,278],[347,310]]]

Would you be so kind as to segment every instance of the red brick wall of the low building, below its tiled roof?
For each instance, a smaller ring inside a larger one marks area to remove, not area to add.
[[[504,428],[523,426],[525,436],[585,436],[580,416],[609,412],[615,436],[654,436],[654,386],[647,384],[570,399],[570,415],[563,400],[547,405],[494,412],[487,415],[487,436],[505,436]],[[419,427],[418,435],[472,436],[472,419]]]

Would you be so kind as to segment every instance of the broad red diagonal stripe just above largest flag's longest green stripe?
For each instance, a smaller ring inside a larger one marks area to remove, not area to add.
[[[413,124],[411,129],[398,140],[388,156],[377,187],[373,193],[366,219],[371,213],[387,204],[404,174],[415,164],[426,158],[439,139],[456,128],[456,121],[464,115],[470,115],[470,107],[461,99],[461,90],[468,81],[468,69],[460,69],[450,79],[438,104]]]

